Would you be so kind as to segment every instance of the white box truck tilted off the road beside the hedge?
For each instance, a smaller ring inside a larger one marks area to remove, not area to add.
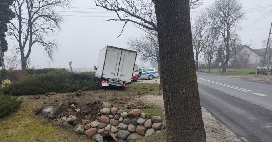
[[[128,87],[132,82],[136,57],[137,51],[113,46],[106,46],[100,50],[98,64],[94,66],[98,87],[109,85]]]

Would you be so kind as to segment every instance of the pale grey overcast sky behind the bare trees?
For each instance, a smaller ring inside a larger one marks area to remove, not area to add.
[[[191,18],[200,14],[200,10],[203,10],[213,1],[214,0],[204,0],[202,6],[191,10]],[[263,48],[261,40],[268,38],[272,21],[272,1],[241,0],[241,3],[247,14],[247,19],[240,24],[244,30],[237,31],[237,33],[240,35],[243,44],[248,44],[249,41],[252,40],[255,49]],[[104,9],[84,9],[84,7],[99,8],[95,6],[93,0],[74,0],[71,7],[81,8],[64,9],[63,11],[105,12]],[[268,11],[270,11],[270,15]],[[55,61],[52,62],[49,60],[43,49],[35,46],[32,48],[30,58],[32,62],[31,65],[36,68],[69,68],[68,62],[70,61],[72,61],[74,68],[92,68],[98,62],[99,51],[106,45],[127,48],[126,41],[128,38],[140,37],[144,34],[143,31],[133,26],[133,24],[128,23],[123,34],[117,38],[122,29],[123,22],[103,21],[111,18],[107,16],[116,16],[112,13],[60,13],[65,15],[66,23],[61,26],[62,31],[60,31],[56,38],[60,47],[58,53],[54,56]],[[14,43],[9,37],[7,37],[7,41],[9,43],[9,51],[5,53],[5,56],[11,56],[13,54],[12,49]],[[137,63],[141,64],[141,61],[137,60]]]

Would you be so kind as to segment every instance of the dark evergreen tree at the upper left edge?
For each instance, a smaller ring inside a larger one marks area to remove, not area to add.
[[[7,23],[15,17],[15,13],[9,8],[14,0],[0,0],[0,40],[3,52],[8,50],[7,41],[5,39],[7,32]]]

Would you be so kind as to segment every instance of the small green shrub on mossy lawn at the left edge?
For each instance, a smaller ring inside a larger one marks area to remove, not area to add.
[[[0,94],[0,118],[16,111],[22,103],[17,97]]]

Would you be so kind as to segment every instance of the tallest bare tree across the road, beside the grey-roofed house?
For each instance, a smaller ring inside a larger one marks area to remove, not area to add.
[[[221,58],[223,70],[226,72],[230,58],[230,37],[232,31],[239,28],[241,20],[245,19],[245,12],[239,0],[216,0],[206,8],[207,23],[213,27],[218,25],[219,34],[223,38],[225,55]]]

